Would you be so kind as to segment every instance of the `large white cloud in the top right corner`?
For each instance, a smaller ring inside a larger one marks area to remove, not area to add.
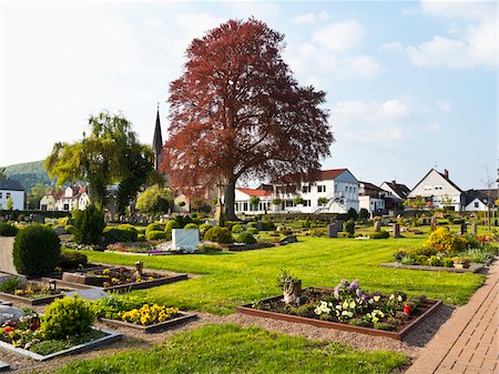
[[[448,34],[407,47],[407,54],[416,67],[497,68],[497,3],[422,1],[420,10],[447,22]]]

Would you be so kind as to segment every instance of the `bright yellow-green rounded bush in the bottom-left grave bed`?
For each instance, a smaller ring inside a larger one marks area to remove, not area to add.
[[[92,307],[83,299],[62,297],[47,307],[40,331],[45,338],[83,335],[90,332],[94,319]]]

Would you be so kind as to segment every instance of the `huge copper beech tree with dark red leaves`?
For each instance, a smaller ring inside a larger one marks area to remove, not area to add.
[[[283,40],[264,22],[231,20],[192,41],[170,84],[162,169],[186,193],[218,186],[230,220],[237,180],[313,175],[330,154],[325,92],[298,85]]]

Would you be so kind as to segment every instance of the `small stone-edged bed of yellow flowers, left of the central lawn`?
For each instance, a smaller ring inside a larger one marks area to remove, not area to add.
[[[194,319],[195,314],[180,312],[176,307],[153,304],[143,297],[111,294],[94,302],[99,320],[113,326],[157,332]]]

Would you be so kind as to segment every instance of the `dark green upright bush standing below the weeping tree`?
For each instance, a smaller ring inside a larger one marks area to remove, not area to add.
[[[90,204],[85,210],[74,210],[74,242],[80,244],[99,244],[105,228],[104,213],[95,205]]]

